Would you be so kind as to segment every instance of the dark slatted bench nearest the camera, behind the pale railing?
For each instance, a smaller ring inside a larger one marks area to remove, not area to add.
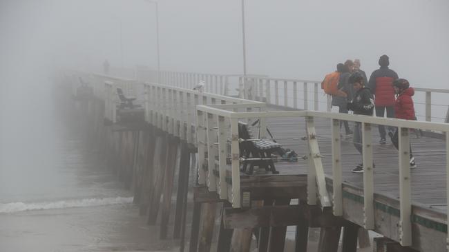
[[[242,139],[240,141],[240,158],[243,158],[243,161],[240,171],[253,174],[254,166],[257,166],[271,171],[272,174],[279,174],[274,167],[271,154],[281,151],[282,145],[271,140],[254,139],[247,123],[243,122],[238,122],[238,136]]]

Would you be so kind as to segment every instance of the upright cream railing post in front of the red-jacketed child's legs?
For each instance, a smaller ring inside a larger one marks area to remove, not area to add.
[[[412,245],[412,189],[410,185],[410,137],[408,128],[399,128],[399,241]]]

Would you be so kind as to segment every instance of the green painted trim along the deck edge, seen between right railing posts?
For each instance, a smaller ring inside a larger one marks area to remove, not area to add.
[[[348,191],[343,191],[343,198],[347,198],[350,200],[354,200],[355,202],[359,202],[363,204],[364,199],[363,196],[356,195],[354,193],[350,193]],[[383,204],[381,202],[374,202],[374,208],[383,211],[384,213],[388,213],[392,216],[401,216],[401,211],[394,207],[390,207],[387,204]],[[448,233],[448,225],[440,222],[436,222],[434,220],[429,220],[428,218],[424,218],[417,215],[411,216],[412,222],[419,224],[423,227],[427,227],[428,229],[434,229],[436,231],[440,231],[442,233]]]

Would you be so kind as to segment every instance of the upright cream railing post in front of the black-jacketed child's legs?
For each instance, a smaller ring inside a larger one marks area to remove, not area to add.
[[[374,229],[374,171],[371,125],[362,123],[363,144],[363,226]]]

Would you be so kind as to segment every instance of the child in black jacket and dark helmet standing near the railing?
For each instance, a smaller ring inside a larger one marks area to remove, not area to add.
[[[351,74],[349,83],[352,83],[356,93],[352,102],[347,103],[347,109],[352,110],[354,114],[361,114],[365,116],[372,116],[374,111],[374,97],[369,88],[365,87],[363,83],[363,76],[360,72],[354,72]],[[363,154],[362,147],[362,124],[354,123],[354,136],[353,136],[354,147],[360,154]],[[374,168],[374,163],[372,164]],[[361,173],[363,172],[363,162],[352,169],[352,172]]]

